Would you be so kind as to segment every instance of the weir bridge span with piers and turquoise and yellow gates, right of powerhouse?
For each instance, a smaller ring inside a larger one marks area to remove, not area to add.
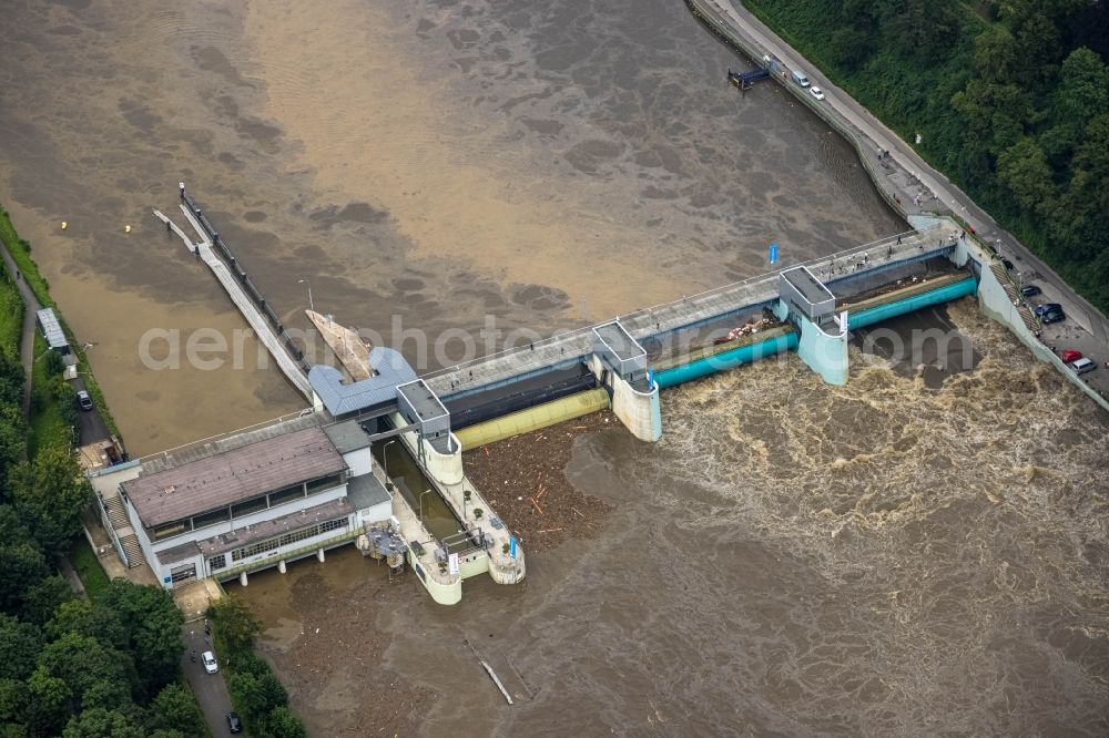
[[[825,381],[845,383],[848,330],[859,327],[856,317],[866,315],[836,314],[835,294],[862,291],[863,285],[873,289],[897,280],[913,265],[936,259],[954,268],[965,266],[968,256],[954,224],[929,219],[907,234],[683,296],[423,379],[450,410],[452,430],[464,445],[495,440],[468,433],[466,427],[500,422],[571,397],[582,401],[568,411],[571,414],[551,416],[551,422],[611,406],[637,438],[655,441],[662,435],[660,390],[740,363],[796,349]],[[950,275],[942,288],[923,296],[917,290],[903,307],[919,309],[973,294],[975,284],[966,273]],[[882,319],[893,315],[886,308]],[[745,328],[734,328],[744,320]],[[716,331],[715,340],[694,346],[690,337],[705,331]],[[530,428],[509,422],[500,437],[522,430]]]

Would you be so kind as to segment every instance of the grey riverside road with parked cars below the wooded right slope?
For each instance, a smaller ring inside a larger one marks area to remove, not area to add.
[[[1014,279],[1018,284],[1035,283],[1044,290],[1040,303],[1062,305],[1067,320],[1046,328],[1044,340],[1057,337],[1080,346],[1099,365],[1109,360],[1109,318],[1089,304],[1049,266],[1034,255],[1009,232],[953,184],[946,176],[929,166],[913,147],[886,127],[854,98],[833,84],[815,65],[808,63],[796,50],[755,18],[737,0],[685,0],[694,13],[702,16],[709,25],[721,24],[724,35],[735,42],[752,59],[771,55],[783,63],[787,71],[782,86],[798,101],[808,105],[817,115],[853,141],[864,166],[875,186],[891,206],[906,217],[920,214],[954,215],[968,223],[978,239],[1014,263]],[[718,29],[720,30],[720,29]],[[806,90],[788,81],[788,70],[803,70],[812,83],[824,90],[825,99],[815,100]],[[879,156],[879,152],[889,152]],[[917,197],[920,196],[919,204]],[[1066,326],[1066,330],[1061,327]],[[1109,375],[1101,366],[1096,373]],[[1109,391],[1109,377],[1090,377],[1089,383],[1105,385]]]

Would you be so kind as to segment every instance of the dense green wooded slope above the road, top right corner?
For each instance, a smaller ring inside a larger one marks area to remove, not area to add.
[[[1109,68],[1086,30],[1092,0],[742,2],[1109,311]]]

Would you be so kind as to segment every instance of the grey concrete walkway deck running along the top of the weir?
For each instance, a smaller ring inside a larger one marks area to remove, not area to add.
[[[928,230],[891,236],[806,262],[804,266],[825,284],[834,284],[944,254],[952,248],[952,238],[957,235],[958,230],[945,222]],[[751,312],[777,299],[779,274],[773,271],[643,308],[631,315],[619,316],[620,322],[642,342],[650,337],[704,325],[724,316]],[[425,375],[424,381],[441,398],[461,397],[554,368],[572,366],[592,353],[592,328],[593,326],[579,328],[536,344],[434,371]]]

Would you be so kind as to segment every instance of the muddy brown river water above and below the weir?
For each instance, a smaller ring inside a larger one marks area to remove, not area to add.
[[[139,360],[150,329],[243,327],[149,214],[179,180],[289,325],[304,279],[343,322],[433,337],[581,325],[761,273],[771,240],[793,262],[903,228],[825,125],[724,84],[742,60],[678,0],[74,0],[4,22],[0,199],[133,453],[303,404],[252,360]],[[970,304],[940,319],[973,371],[856,345],[845,388],[792,357],[668,392],[662,442],[574,450],[571,480],[615,508],[602,536],[454,608],[409,583],[338,635],[390,638],[381,668],[435,695],[427,735],[1105,734],[1109,427]],[[269,647],[311,632],[298,577],[342,598],[356,556],[252,577]],[[464,637],[535,700],[505,706]],[[313,735],[374,732],[357,691],[298,699]]]

